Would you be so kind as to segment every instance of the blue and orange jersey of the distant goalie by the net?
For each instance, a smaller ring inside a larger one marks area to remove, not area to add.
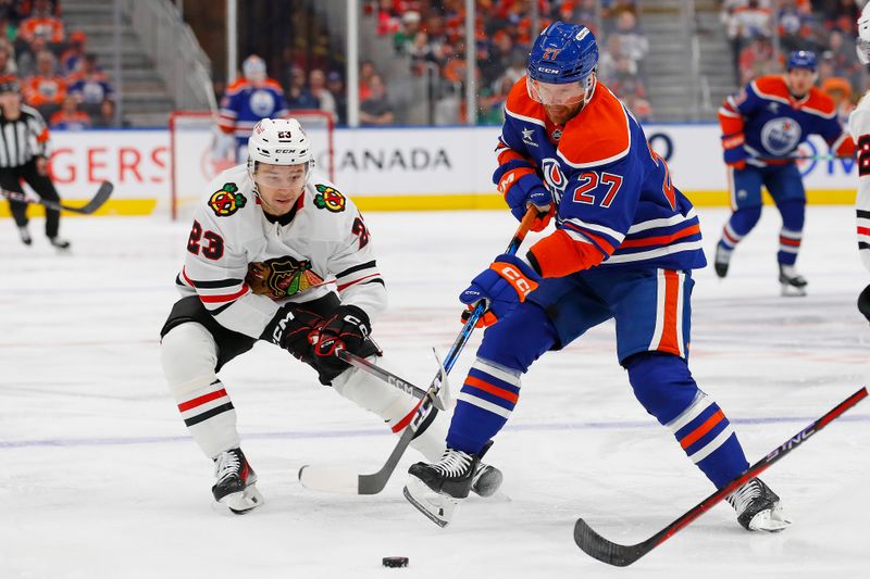
[[[239,146],[247,144],[253,126],[262,118],[279,118],[289,114],[284,90],[268,78],[256,87],[245,78],[233,83],[221,99],[221,130],[234,135]]]

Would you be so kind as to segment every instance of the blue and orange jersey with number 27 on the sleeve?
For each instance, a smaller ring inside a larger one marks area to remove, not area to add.
[[[556,231],[532,247],[544,277],[593,266],[694,269],[707,261],[688,199],[643,128],[601,83],[564,126],[532,100],[525,77],[511,89],[493,178],[502,193],[531,173],[557,204]]]

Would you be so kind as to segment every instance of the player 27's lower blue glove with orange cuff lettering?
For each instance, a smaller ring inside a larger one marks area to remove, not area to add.
[[[525,301],[526,295],[537,288],[538,281],[540,276],[532,266],[515,255],[502,254],[496,257],[489,269],[472,279],[471,286],[459,294],[459,301],[473,309],[484,300],[487,314],[481,318],[478,326],[490,326]]]

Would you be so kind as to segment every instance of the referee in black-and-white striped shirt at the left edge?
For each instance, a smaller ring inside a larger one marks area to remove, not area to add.
[[[48,176],[48,128],[42,115],[21,102],[18,80],[0,77],[0,188],[24,192],[24,180],[47,201],[60,201],[54,184]],[[18,235],[25,246],[33,243],[27,230],[27,204],[9,201]],[[61,214],[46,207],[46,236],[52,246],[65,250],[70,242],[58,237]]]

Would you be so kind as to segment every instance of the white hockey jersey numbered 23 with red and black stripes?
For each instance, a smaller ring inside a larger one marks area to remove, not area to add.
[[[284,303],[331,291],[374,319],[386,289],[353,202],[314,173],[290,215],[286,225],[266,218],[246,165],[221,173],[196,210],[178,290],[252,338]]]

